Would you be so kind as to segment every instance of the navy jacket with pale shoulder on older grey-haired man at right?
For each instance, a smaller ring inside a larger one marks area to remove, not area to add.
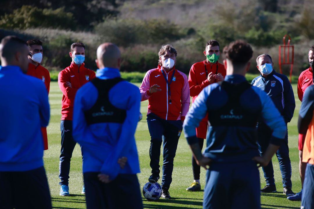
[[[273,70],[266,78],[262,75],[254,78],[251,84],[268,94],[286,123],[291,121],[295,110],[295,98],[287,76]]]

